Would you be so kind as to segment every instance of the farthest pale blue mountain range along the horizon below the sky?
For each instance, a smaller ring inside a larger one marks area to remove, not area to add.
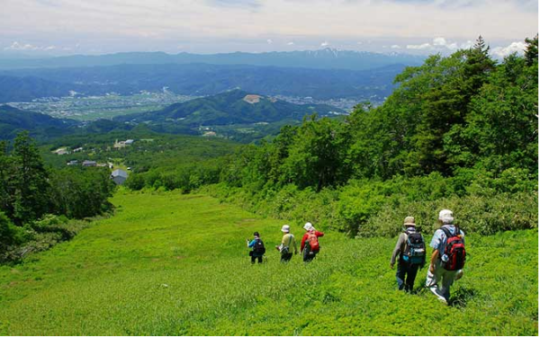
[[[0,58],[0,69],[39,67],[96,67],[157,64],[206,63],[212,65],[250,65],[272,67],[307,67],[317,69],[366,70],[395,64],[420,65],[424,57],[409,54],[380,54],[339,49],[282,51],[266,53],[166,54],[164,52],[129,52],[99,56],[67,56],[58,58]]]

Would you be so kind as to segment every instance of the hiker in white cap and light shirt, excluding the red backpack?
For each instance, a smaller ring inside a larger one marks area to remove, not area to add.
[[[464,232],[454,225],[454,213],[449,209],[443,209],[438,217],[441,227],[435,231],[431,244],[433,249],[431,254],[431,263],[426,279],[426,287],[433,292],[439,300],[448,303],[450,299],[450,287],[455,279],[463,276],[463,270],[451,270],[447,268],[448,256],[446,255],[446,243],[449,239],[456,238],[464,244]],[[456,240],[454,239],[454,240]],[[463,266],[462,266],[463,268]]]

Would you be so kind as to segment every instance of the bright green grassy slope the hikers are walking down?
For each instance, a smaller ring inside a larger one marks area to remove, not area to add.
[[[538,333],[534,230],[468,235],[455,306],[445,306],[420,287],[426,270],[416,295],[395,289],[394,239],[327,233],[314,262],[283,265],[272,249],[281,221],[174,191],[120,191],[112,202],[114,217],[0,268],[0,334]],[[248,262],[254,230],[268,250],[263,265]]]

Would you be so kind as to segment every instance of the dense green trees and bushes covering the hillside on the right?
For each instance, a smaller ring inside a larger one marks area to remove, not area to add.
[[[537,44],[501,63],[482,37],[434,55],[398,75],[380,107],[360,104],[345,121],[313,116],[229,156],[210,191],[350,235],[394,235],[389,219],[408,214],[421,228],[442,207],[465,231],[536,227]],[[141,188],[144,178],[131,179]]]

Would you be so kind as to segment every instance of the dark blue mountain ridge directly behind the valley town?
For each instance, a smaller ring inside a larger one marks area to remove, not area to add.
[[[41,97],[140,91],[212,95],[234,88],[267,95],[383,101],[404,65],[363,71],[292,67],[190,65],[121,65],[40,68],[0,72],[0,102],[29,102]]]

